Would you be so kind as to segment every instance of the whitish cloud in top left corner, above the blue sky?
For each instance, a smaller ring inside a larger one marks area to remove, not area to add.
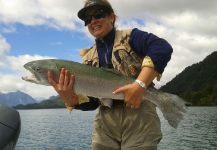
[[[1,0],[0,22],[5,24],[48,25],[75,29],[77,11],[82,1],[69,0]]]

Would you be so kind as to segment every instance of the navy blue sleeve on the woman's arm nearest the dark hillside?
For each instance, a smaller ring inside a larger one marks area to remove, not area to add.
[[[150,57],[155,70],[160,74],[163,73],[173,52],[172,46],[165,39],[136,28],[131,33],[129,44],[139,56]]]

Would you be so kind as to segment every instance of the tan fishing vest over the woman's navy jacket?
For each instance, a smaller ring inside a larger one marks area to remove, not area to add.
[[[143,59],[129,45],[131,32],[132,29],[116,31],[111,61],[116,71],[136,78],[141,71]],[[80,55],[84,64],[99,67],[96,44],[89,49],[82,49]]]

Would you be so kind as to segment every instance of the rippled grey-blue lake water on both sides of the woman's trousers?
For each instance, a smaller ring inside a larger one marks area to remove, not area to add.
[[[15,150],[89,150],[96,111],[19,110],[21,133]],[[190,107],[178,129],[159,113],[159,150],[217,150],[217,107]]]

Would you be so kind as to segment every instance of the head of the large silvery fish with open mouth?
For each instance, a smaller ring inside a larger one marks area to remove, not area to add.
[[[59,69],[52,59],[31,61],[26,63],[24,68],[31,72],[32,75],[22,77],[22,79],[36,84],[50,85],[47,75],[48,70],[52,70],[54,79],[59,75]]]

